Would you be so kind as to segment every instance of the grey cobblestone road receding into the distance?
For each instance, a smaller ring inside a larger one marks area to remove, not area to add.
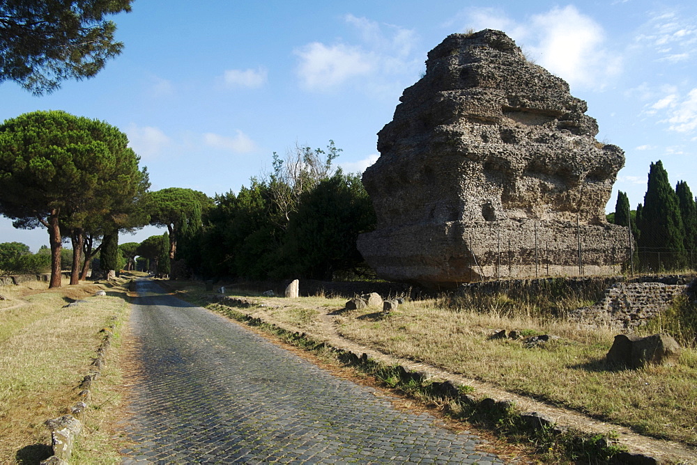
[[[137,283],[124,463],[504,463],[234,322]]]

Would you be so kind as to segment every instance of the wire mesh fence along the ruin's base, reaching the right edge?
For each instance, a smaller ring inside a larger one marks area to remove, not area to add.
[[[468,280],[613,276],[697,269],[697,251],[637,246],[629,228],[530,221],[470,228]]]

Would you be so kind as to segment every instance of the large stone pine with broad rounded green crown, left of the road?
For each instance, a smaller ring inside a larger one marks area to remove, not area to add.
[[[99,120],[35,111],[0,125],[0,214],[47,228],[50,287],[61,285],[61,227],[135,201],[149,185],[138,161],[125,134]]]

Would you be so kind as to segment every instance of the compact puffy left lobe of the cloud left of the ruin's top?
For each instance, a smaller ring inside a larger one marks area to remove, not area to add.
[[[355,76],[370,74],[375,68],[375,57],[358,47],[312,42],[295,54],[300,57],[298,76],[309,90],[327,90]]]

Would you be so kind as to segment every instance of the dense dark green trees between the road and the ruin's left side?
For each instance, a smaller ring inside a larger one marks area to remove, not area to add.
[[[360,265],[355,239],[374,227],[374,212],[360,177],[333,171],[339,152],[330,141],[326,151],[296,148],[285,160],[274,154],[267,179],[215,196],[204,217],[198,271],[331,279]]]

